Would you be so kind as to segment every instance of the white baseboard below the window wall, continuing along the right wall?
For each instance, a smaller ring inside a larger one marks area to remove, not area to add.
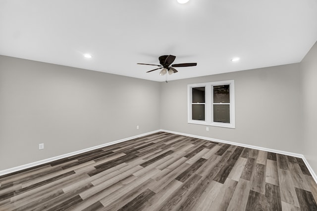
[[[232,145],[241,146],[241,147],[247,147],[247,148],[251,148],[251,149],[263,150],[263,151],[266,151],[266,152],[273,152],[273,153],[277,153],[277,154],[281,154],[281,155],[288,155],[288,156],[292,156],[292,157],[296,157],[296,158],[301,158],[301,159],[303,159],[305,165],[307,166],[308,170],[312,174],[312,177],[314,178],[315,182],[317,183],[317,175],[316,175],[316,173],[314,172],[312,167],[309,165],[309,163],[306,160],[305,156],[302,155],[302,154],[286,152],[286,151],[281,151],[281,150],[275,150],[275,149],[269,149],[269,148],[264,148],[264,147],[258,147],[258,146],[248,145],[248,144],[241,144],[241,143],[237,143],[237,142],[225,141],[225,140],[220,140],[220,139],[216,139],[216,138],[209,138],[209,137],[204,137],[204,136],[199,136],[199,135],[192,135],[192,134],[187,134],[187,133],[182,133],[182,132],[175,132],[175,131],[170,131],[170,130],[165,130],[165,129],[160,129],[160,131],[174,133],[174,134],[178,134],[178,135],[189,136],[189,137],[193,137],[193,138],[200,138],[200,139],[205,139],[205,140],[215,141],[215,142],[220,142],[220,143],[225,143],[225,144],[232,144]]]

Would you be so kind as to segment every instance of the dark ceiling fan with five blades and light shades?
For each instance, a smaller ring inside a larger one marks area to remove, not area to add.
[[[159,57],[159,64],[144,64],[144,63],[137,63],[137,64],[144,64],[144,65],[153,65],[153,66],[158,66],[159,68],[156,68],[154,70],[150,70],[147,73],[150,73],[155,70],[162,69],[159,72],[160,76],[165,75],[168,73],[169,75],[173,73],[177,73],[178,71],[174,67],[190,67],[190,66],[196,66],[197,63],[182,63],[182,64],[172,64],[175,60],[176,56],[173,55],[164,55]]]

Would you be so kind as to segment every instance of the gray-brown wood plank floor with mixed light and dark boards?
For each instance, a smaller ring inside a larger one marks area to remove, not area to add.
[[[166,132],[0,176],[0,211],[317,211],[316,202],[302,159]]]

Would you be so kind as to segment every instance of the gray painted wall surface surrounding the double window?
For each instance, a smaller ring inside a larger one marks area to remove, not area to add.
[[[193,69],[193,71],[195,71]],[[299,64],[161,83],[161,128],[302,153]],[[187,123],[187,84],[234,80],[236,128]]]

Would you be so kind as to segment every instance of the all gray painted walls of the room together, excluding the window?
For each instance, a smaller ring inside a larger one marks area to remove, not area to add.
[[[316,58],[317,44],[298,64],[166,84],[0,56],[0,170],[162,128],[304,154],[317,172]],[[232,79],[236,128],[188,124],[187,84]]]

